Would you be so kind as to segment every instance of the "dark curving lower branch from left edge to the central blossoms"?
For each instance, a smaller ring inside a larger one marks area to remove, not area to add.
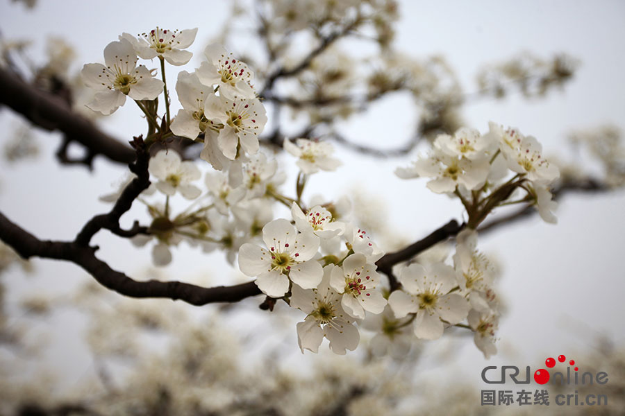
[[[0,239],[24,259],[36,256],[76,263],[102,286],[129,297],[166,297],[201,306],[214,302],[239,302],[261,293],[253,281],[214,288],[203,288],[181,281],[136,281],[97,259],[92,248],[75,242],[42,241],[12,223],[2,213],[0,213]]]

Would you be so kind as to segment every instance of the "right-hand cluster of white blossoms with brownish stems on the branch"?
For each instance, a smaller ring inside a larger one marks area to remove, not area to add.
[[[556,222],[549,186],[560,176],[558,167],[543,157],[535,137],[515,128],[490,123],[485,135],[469,128],[439,135],[428,156],[396,174],[403,179],[430,177],[431,191],[458,196],[474,229],[495,207],[521,202],[536,205],[547,223]],[[525,195],[519,197],[519,191]]]

